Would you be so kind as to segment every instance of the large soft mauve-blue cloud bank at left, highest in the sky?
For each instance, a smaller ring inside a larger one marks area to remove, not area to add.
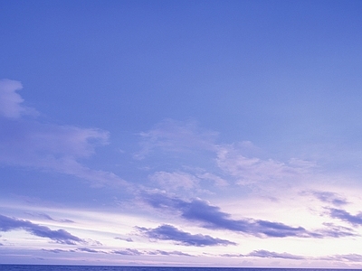
[[[100,129],[59,126],[23,117],[30,112],[15,90],[20,82],[0,80],[0,163],[70,174],[96,185],[127,185],[114,173],[92,170],[79,159],[107,145],[109,133]]]

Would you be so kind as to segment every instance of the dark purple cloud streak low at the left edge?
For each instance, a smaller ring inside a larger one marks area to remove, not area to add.
[[[83,239],[71,235],[71,233],[64,229],[52,230],[45,226],[33,224],[28,220],[17,220],[0,215],[0,231],[14,229],[24,229],[34,236],[50,238],[60,244],[76,245],[77,243],[85,243]]]

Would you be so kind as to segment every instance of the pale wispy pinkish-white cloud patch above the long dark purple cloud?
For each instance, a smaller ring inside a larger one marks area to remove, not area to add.
[[[310,161],[291,158],[288,162],[281,162],[259,158],[258,154],[261,154],[262,150],[252,145],[250,141],[231,145],[219,144],[216,142],[217,133],[201,129],[195,122],[166,120],[140,135],[141,150],[135,157],[172,158],[173,168],[179,163],[178,166],[183,170],[191,170],[188,178],[184,178],[183,181],[186,187],[190,187],[189,180],[192,175],[194,180],[197,178],[199,181],[212,181],[215,186],[227,186],[233,181],[236,184],[249,186],[252,191],[271,192],[304,182],[312,173],[316,173],[317,166]],[[200,170],[195,173],[197,168]],[[167,175],[166,178],[165,174],[163,173],[162,180],[169,182],[170,185],[176,183],[176,181],[171,182],[171,179],[183,180],[175,175],[173,178]],[[161,183],[159,173],[153,177],[153,180],[156,180],[156,176]],[[195,184],[195,181],[193,183]]]

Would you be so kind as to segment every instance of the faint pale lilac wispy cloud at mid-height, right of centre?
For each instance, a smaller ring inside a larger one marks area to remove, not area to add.
[[[219,144],[218,133],[206,131],[195,122],[176,122],[166,120],[148,132],[141,133],[141,150],[135,155],[143,159],[154,153],[189,154],[189,156],[207,153],[206,160],[217,167],[217,170],[235,180],[238,184],[284,183],[295,182],[312,173],[316,164],[297,158],[288,162],[273,159],[262,159],[252,154],[256,147],[251,142],[240,144]],[[183,164],[185,166],[185,164]],[[215,185],[226,185],[228,182],[211,173],[198,174],[199,179],[214,181]],[[190,178],[188,178],[190,180]],[[188,183],[190,184],[190,183]],[[271,186],[271,185],[270,185]]]

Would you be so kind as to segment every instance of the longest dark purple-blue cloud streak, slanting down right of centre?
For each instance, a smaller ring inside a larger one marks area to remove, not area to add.
[[[266,237],[310,237],[311,234],[302,227],[291,227],[278,222],[267,220],[232,220],[231,215],[222,212],[220,208],[209,205],[206,201],[183,201],[178,198],[170,198],[161,193],[148,193],[145,201],[158,209],[173,209],[180,213],[186,220],[202,223],[208,229],[228,229],[243,232],[253,236]]]

